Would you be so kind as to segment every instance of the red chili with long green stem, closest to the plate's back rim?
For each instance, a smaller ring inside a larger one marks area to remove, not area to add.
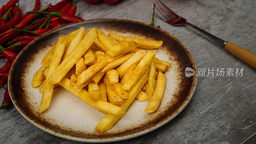
[[[77,22],[77,21],[84,21],[83,19],[78,18],[77,16],[69,15],[67,13],[62,13],[62,12],[39,12],[39,11],[35,11],[35,12],[27,12],[27,13],[52,14],[53,16],[56,16],[56,17],[60,18],[60,20],[62,20],[64,22],[68,22],[68,23]]]

